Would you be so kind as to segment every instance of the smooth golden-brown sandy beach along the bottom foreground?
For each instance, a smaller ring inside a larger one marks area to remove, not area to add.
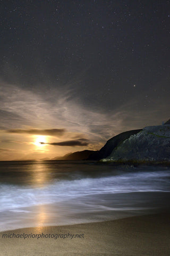
[[[105,222],[4,231],[0,234],[0,255],[169,256],[169,217],[169,213],[160,213]]]

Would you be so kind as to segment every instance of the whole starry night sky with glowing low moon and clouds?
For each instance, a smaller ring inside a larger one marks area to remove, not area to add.
[[[169,22],[164,0],[1,0],[0,160],[167,121]]]

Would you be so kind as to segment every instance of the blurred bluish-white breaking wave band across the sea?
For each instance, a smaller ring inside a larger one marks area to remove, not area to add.
[[[135,172],[102,178],[54,179],[44,187],[0,185],[0,211],[54,204],[87,195],[170,191],[169,171]],[[24,210],[23,210],[24,211]]]

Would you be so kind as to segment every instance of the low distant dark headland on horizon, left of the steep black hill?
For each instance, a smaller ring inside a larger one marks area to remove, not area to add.
[[[55,157],[52,160],[86,160],[94,152],[94,150],[77,151],[64,156]]]

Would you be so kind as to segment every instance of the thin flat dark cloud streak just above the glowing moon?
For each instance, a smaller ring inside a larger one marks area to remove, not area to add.
[[[49,136],[55,136],[55,135],[63,135],[65,133],[65,129],[11,129],[7,130],[7,133],[27,133],[27,134],[35,134],[35,135],[49,135]]]

